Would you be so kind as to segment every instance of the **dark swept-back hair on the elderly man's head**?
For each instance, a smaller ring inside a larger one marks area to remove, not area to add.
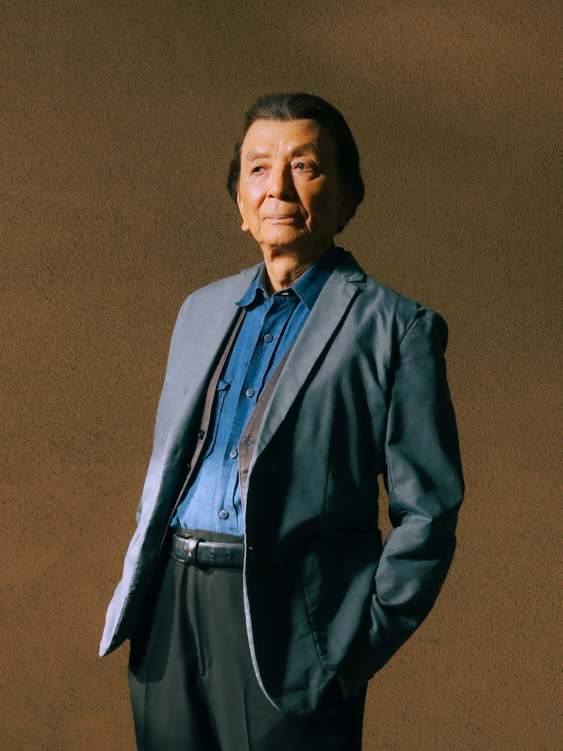
[[[354,198],[354,207],[348,215],[351,219],[356,213],[358,205],[363,201],[365,193],[363,179],[360,174],[360,155],[354,137],[342,114],[336,107],[329,104],[321,97],[312,94],[297,92],[294,94],[266,94],[258,98],[252,107],[245,113],[242,133],[236,141],[233,158],[230,160],[229,174],[227,177],[227,191],[230,198],[236,203],[236,189],[240,179],[240,153],[242,141],[248,128],[254,120],[300,120],[313,119],[321,122],[330,132],[336,144],[336,159],[339,169],[340,180],[348,185]],[[339,227],[342,232],[344,227]]]

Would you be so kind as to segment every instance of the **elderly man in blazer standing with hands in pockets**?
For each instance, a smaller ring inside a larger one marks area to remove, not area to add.
[[[100,655],[130,638],[140,749],[357,751],[456,546],[447,325],[335,245],[364,189],[323,99],[258,99],[227,188],[263,261],[179,311]]]

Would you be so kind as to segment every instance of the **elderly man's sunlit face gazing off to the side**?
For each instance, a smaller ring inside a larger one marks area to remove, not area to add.
[[[263,250],[326,249],[346,224],[336,144],[316,120],[255,120],[242,143],[237,203],[242,230]]]

